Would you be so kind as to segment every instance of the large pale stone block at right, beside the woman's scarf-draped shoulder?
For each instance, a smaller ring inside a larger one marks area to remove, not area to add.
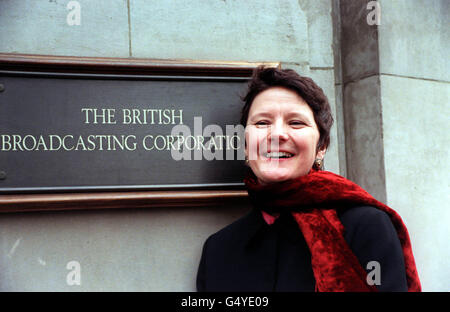
[[[386,192],[406,223],[424,291],[449,291],[450,88],[381,76]]]

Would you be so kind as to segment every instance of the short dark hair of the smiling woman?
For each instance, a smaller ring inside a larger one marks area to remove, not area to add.
[[[252,78],[248,83],[247,93],[242,97],[244,107],[241,124],[247,125],[250,106],[255,97],[273,87],[292,90],[305,100],[313,111],[314,120],[319,128],[320,138],[317,149],[327,148],[330,144],[330,129],[333,125],[333,116],[328,99],[322,88],[311,78],[300,76],[292,69],[259,66],[253,71]]]

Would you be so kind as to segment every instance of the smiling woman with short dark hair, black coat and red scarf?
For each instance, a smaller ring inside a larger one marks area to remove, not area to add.
[[[333,123],[322,89],[260,67],[244,102],[254,209],[207,239],[198,291],[420,291],[401,218],[322,170]]]

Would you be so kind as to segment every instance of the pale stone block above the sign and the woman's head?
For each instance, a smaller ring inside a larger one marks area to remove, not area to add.
[[[307,19],[297,1],[131,0],[134,57],[308,61]]]

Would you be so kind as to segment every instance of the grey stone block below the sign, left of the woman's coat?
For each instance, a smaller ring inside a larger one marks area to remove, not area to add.
[[[249,207],[6,214],[0,291],[195,291],[209,235]],[[69,285],[77,261],[80,285]]]

